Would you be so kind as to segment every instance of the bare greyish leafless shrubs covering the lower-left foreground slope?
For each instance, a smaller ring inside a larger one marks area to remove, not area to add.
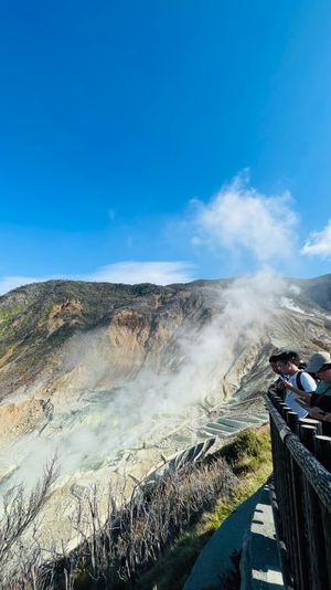
[[[23,531],[34,526],[44,504],[42,498],[49,494],[53,472],[54,465],[25,504],[21,491],[8,503],[0,536],[4,561],[10,547],[20,544]],[[86,488],[83,496],[75,496],[77,508],[72,517],[77,547],[71,552],[63,547],[60,555],[54,545],[45,562],[35,542],[35,555],[30,551],[29,558],[23,559],[15,576],[17,583],[1,588],[74,590],[82,582],[89,588],[110,589],[120,581],[126,588],[137,588],[139,576],[173,545],[196,515],[210,508],[221,495],[228,495],[235,483],[236,477],[226,462],[215,459],[207,464],[184,464],[153,484],[136,482],[126,502],[124,488],[128,478],[125,477],[122,489],[109,485],[106,510],[100,491],[96,486]],[[11,535],[10,523],[14,524]],[[22,544],[22,554],[23,550]]]

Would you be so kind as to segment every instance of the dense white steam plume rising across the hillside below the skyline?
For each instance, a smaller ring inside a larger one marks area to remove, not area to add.
[[[174,410],[178,391],[182,403],[195,403],[214,393],[220,402],[220,391],[233,362],[247,347],[259,343],[266,324],[278,314],[276,302],[282,288],[279,276],[260,271],[220,292],[222,310],[214,319],[201,331],[192,327],[180,337],[184,360],[170,384]]]

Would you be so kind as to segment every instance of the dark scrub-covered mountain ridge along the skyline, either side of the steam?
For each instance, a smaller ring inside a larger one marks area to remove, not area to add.
[[[131,327],[139,319],[157,327],[160,318],[178,316],[207,322],[220,308],[220,292],[236,280],[199,280],[167,286],[125,285],[54,280],[18,287],[0,297],[0,399],[29,384],[71,337],[117,322]],[[331,312],[331,275],[287,278],[300,289],[299,304]],[[293,297],[293,293],[289,294]],[[218,301],[217,301],[218,299]],[[130,309],[131,315],[125,309]],[[121,312],[121,315],[120,315]]]

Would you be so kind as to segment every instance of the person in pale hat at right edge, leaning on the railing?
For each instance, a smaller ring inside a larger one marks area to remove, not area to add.
[[[325,350],[314,352],[307,365],[307,371],[320,379],[316,390],[301,391],[297,387],[286,383],[293,393],[308,405],[309,415],[331,422],[331,356]]]

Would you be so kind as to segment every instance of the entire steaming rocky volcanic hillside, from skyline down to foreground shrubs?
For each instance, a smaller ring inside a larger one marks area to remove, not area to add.
[[[331,275],[51,281],[0,298],[0,491],[33,486],[56,452],[44,537],[72,546],[92,484],[130,493],[266,420],[270,354],[331,349]]]

